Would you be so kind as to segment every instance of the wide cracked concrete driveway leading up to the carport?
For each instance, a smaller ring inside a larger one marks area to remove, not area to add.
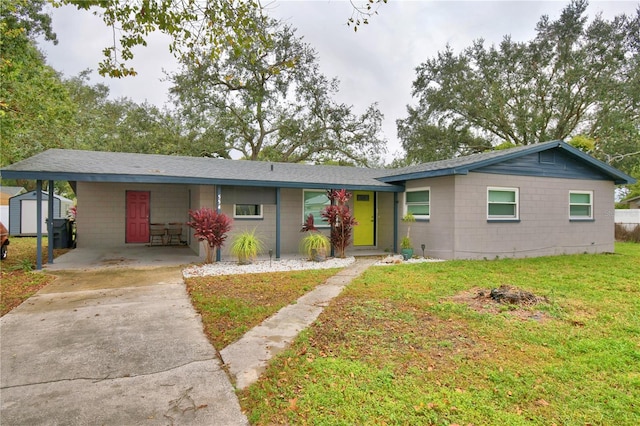
[[[248,424],[179,267],[59,273],[0,319],[0,424]]]

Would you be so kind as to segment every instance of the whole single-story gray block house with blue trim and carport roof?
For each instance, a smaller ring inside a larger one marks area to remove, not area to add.
[[[304,218],[319,217],[328,189],[353,194],[349,254],[398,252],[407,212],[416,252],[424,244],[436,258],[612,252],[615,185],[635,182],[562,141],[399,169],[52,149],[1,173],[69,181],[78,248],[149,244],[151,223],[184,223],[209,207],[234,219],[230,238],[255,228],[276,258],[298,252]],[[182,232],[204,256],[192,230]]]

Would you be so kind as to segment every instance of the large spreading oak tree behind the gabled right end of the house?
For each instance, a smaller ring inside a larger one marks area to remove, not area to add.
[[[557,20],[543,16],[529,42],[480,39],[421,64],[418,104],[398,121],[408,156],[418,162],[436,159],[425,152],[448,158],[582,135],[594,141],[594,155],[630,172],[640,161],[640,9],[611,21],[589,21],[586,9],[574,0]],[[445,146],[434,133],[449,136]]]

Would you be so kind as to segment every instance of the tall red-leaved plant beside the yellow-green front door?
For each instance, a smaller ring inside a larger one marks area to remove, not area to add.
[[[349,210],[351,193],[345,189],[330,189],[327,196],[331,205],[322,209],[320,215],[331,225],[331,244],[337,251],[338,257],[345,257],[345,250],[351,244],[353,227],[358,224]]]

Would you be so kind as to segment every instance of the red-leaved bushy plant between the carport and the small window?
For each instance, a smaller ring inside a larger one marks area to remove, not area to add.
[[[193,235],[198,241],[207,242],[206,263],[213,263],[213,253],[224,244],[233,220],[226,214],[207,207],[189,210],[189,217],[191,221],[187,225],[194,229]]]

